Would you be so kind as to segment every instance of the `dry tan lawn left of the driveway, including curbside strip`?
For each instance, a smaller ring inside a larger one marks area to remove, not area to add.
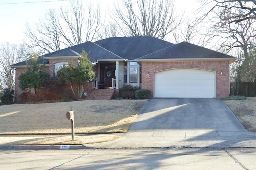
[[[75,134],[104,134],[127,132],[145,100],[82,100],[46,104],[12,104],[0,106],[0,135],[10,134],[71,134],[71,122],[66,118],[70,106],[74,107]],[[22,136],[21,136],[22,137]],[[79,136],[76,142],[66,138],[36,138],[21,142],[0,136],[0,144],[85,144],[104,142],[118,136]],[[86,138],[86,141],[83,139]],[[51,142],[47,142],[47,141]],[[66,143],[65,143],[66,142]]]

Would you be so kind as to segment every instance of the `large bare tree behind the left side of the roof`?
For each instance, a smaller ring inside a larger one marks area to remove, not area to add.
[[[26,26],[26,35],[31,47],[41,53],[49,53],[96,39],[102,27],[100,6],[83,4],[82,0],[72,0],[69,7],[60,8],[60,13],[49,10],[44,20],[33,27]]]

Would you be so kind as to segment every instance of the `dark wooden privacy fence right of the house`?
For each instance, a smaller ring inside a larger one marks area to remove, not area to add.
[[[230,94],[234,96],[256,96],[256,82],[230,83]]]

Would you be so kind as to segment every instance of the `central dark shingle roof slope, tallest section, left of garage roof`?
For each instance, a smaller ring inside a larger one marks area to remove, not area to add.
[[[95,43],[128,60],[174,45],[152,36],[112,37]]]

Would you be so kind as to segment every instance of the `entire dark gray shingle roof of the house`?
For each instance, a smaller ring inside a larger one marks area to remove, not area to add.
[[[234,58],[232,56],[196,46],[188,42],[172,44],[152,36],[112,37],[96,42],[85,42],[44,55],[47,58],[79,57],[86,51],[91,62],[96,60],[149,60],[149,59],[186,59],[186,58]],[[235,59],[235,58],[234,58]],[[40,61],[43,63],[42,56]],[[26,66],[26,62],[13,64]]]

